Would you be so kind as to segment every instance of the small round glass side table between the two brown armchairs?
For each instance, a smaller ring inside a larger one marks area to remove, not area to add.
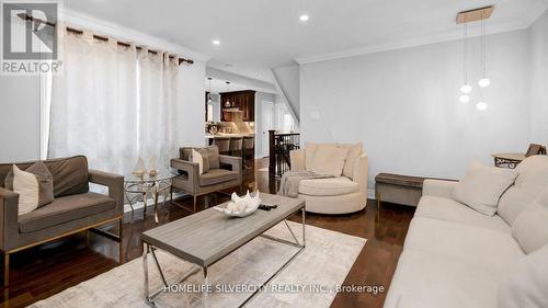
[[[144,205],[144,217],[147,216],[147,201],[155,201],[155,221],[158,225],[158,197],[163,195],[162,207],[165,205],[165,199],[171,193],[171,180],[175,176],[170,171],[159,171],[156,176],[150,176],[148,173],[142,176],[129,174],[124,176],[124,194],[132,207],[132,219],[135,213],[134,204],[139,198]]]

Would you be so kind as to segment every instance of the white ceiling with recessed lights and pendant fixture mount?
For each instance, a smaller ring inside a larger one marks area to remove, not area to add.
[[[548,0],[66,0],[72,11],[209,55],[260,80],[269,69],[457,37],[456,13],[495,4],[488,31],[523,28]],[[307,23],[299,15],[307,13]],[[215,46],[212,39],[219,39]],[[229,65],[229,66],[227,66]]]

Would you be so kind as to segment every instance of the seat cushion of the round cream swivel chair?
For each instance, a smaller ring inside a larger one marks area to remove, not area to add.
[[[359,191],[359,185],[349,178],[328,178],[302,180],[299,183],[299,193],[311,196],[339,196]]]

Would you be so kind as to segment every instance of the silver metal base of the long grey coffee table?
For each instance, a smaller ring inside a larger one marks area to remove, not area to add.
[[[305,208],[302,208],[300,210],[302,212],[302,220],[301,220],[302,237],[301,237],[301,241],[300,242],[297,240],[297,237],[295,236],[295,232],[293,231],[293,229],[287,224],[287,220],[285,220],[285,219],[283,221],[284,221],[285,226],[287,227],[287,229],[289,230],[289,232],[290,232],[294,241],[288,241],[288,240],[285,240],[285,239],[272,237],[272,236],[264,235],[264,233],[260,236],[262,238],[265,238],[265,239],[269,239],[269,240],[273,240],[273,241],[276,241],[276,242],[279,242],[279,243],[283,243],[283,244],[288,244],[288,246],[292,246],[292,247],[296,247],[299,250],[297,252],[295,252],[292,255],[292,258],[289,258],[276,272],[274,272],[274,274],[272,274],[266,280],[266,282],[264,282],[261,285],[261,287],[256,288],[255,292],[253,294],[251,294],[239,307],[246,306],[246,304],[250,303],[256,295],[259,295],[264,289],[264,287],[267,286],[269,283],[272,280],[274,280],[282,271],[284,271],[293,262],[293,260],[295,260],[295,258],[297,258],[297,255],[299,255],[302,252],[302,250],[305,249],[305,247],[306,247],[306,236],[305,236],[305,226],[306,226],[306,221],[305,221],[306,217],[305,216],[306,216],[306,210],[305,210]],[[158,250],[158,248],[153,247],[152,244],[144,242],[144,249],[142,249],[142,270],[144,270],[144,273],[145,273],[145,275],[144,275],[144,278],[145,278],[145,300],[146,300],[146,303],[147,303],[148,306],[156,307],[155,298],[158,297],[160,294],[162,294],[165,289],[169,289],[170,285],[180,284],[180,283],[184,282],[185,280],[187,280],[190,276],[196,274],[197,272],[202,272],[202,274],[203,274],[204,286],[208,286],[209,285],[208,277],[207,277],[207,266],[202,266],[202,265],[197,265],[197,264],[193,264],[194,266],[190,271],[187,271],[186,273],[184,273],[181,278],[168,283],[168,281],[165,280],[165,276],[163,275],[162,269],[160,266],[160,262],[158,261],[158,258],[156,256],[155,250]],[[162,281],[162,284],[163,284],[162,287],[160,287],[159,289],[157,289],[153,293],[150,293],[149,285],[148,285],[148,254],[149,253],[152,255],[152,260],[155,262],[156,269],[158,270],[158,273],[160,274],[160,277],[161,277],[161,281]],[[213,265],[213,264],[210,264],[210,265]],[[202,304],[203,304],[203,307],[208,307],[207,306],[207,297],[208,297],[207,290],[203,292],[202,293]]]

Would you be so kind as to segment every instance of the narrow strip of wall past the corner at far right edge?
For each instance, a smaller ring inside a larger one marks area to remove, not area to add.
[[[548,144],[548,12],[530,27],[530,140]]]

